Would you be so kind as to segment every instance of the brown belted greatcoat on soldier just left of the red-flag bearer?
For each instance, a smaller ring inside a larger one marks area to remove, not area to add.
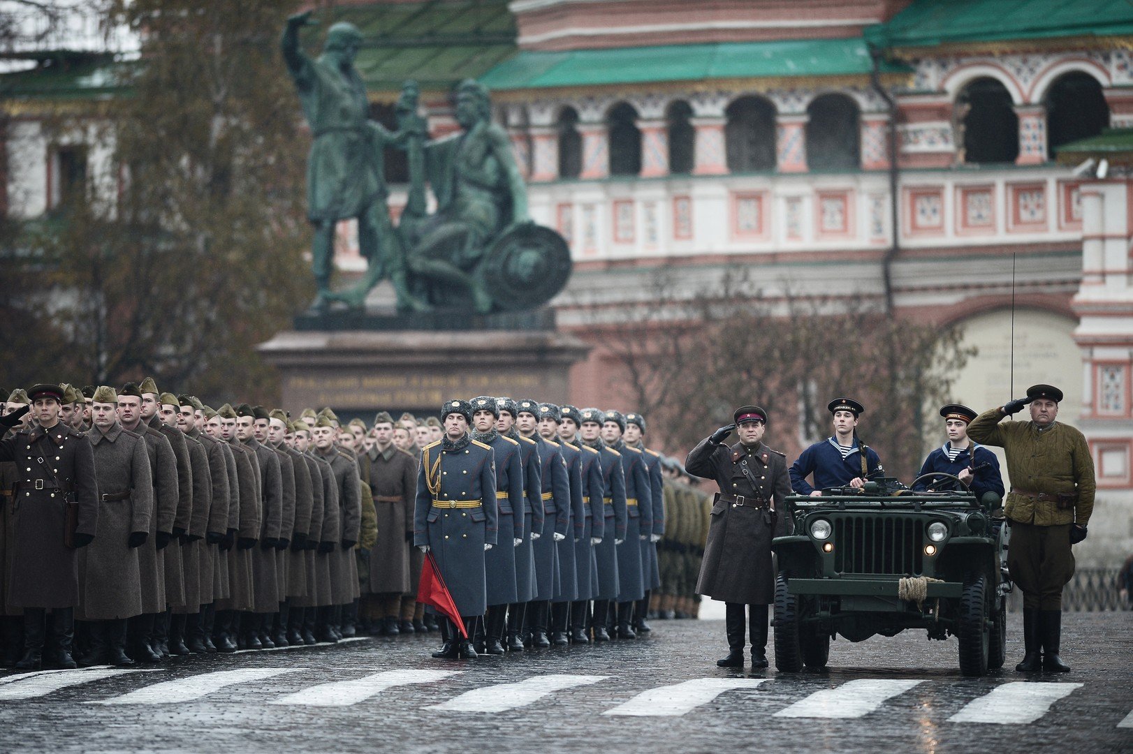
[[[369,489],[377,516],[377,542],[369,554],[369,591],[409,591],[409,550],[417,498],[417,459],[390,445],[363,456],[369,465]]]

